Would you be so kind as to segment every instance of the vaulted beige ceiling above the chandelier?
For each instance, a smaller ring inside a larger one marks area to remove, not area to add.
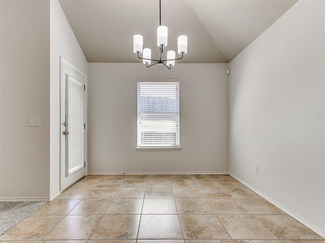
[[[161,0],[168,27],[166,51],[177,52],[187,35],[188,53],[178,62],[228,63],[298,0]],[[59,0],[88,62],[141,62],[133,35],[158,58],[158,0]],[[165,52],[164,52],[165,53]],[[165,53],[166,55],[166,53]]]

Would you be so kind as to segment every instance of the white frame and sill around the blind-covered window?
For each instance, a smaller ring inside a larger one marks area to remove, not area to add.
[[[167,151],[167,150],[180,150],[180,110],[178,111],[178,146],[138,146],[139,135],[139,115],[138,115],[138,83],[178,83],[178,105],[180,107],[180,80],[179,78],[138,78],[137,79],[137,151]]]

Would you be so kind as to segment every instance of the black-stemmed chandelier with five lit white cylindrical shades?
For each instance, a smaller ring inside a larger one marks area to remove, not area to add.
[[[163,56],[163,49],[167,47],[168,44],[168,28],[161,25],[161,0],[159,0],[159,27],[157,28],[157,46],[159,47],[159,60],[151,59],[151,49],[143,49],[143,36],[141,34],[136,34],[133,36],[133,52],[138,55],[138,58],[142,59],[143,64],[147,67],[151,67],[155,64],[158,66],[165,65],[168,69],[171,69],[175,65],[175,60],[180,60],[183,58],[184,54],[187,53],[187,36],[178,36],[178,50],[177,53],[182,55],[180,58],[175,58],[174,51],[167,52],[167,59],[161,60]],[[142,57],[139,54],[142,53]],[[153,61],[153,63],[151,63]]]

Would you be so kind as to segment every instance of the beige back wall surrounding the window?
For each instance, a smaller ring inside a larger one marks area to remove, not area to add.
[[[227,68],[89,63],[89,174],[228,173]],[[138,77],[180,78],[180,151],[136,151]]]

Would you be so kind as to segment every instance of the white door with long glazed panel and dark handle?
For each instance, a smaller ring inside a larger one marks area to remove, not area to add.
[[[61,191],[85,175],[85,77],[61,58]]]

